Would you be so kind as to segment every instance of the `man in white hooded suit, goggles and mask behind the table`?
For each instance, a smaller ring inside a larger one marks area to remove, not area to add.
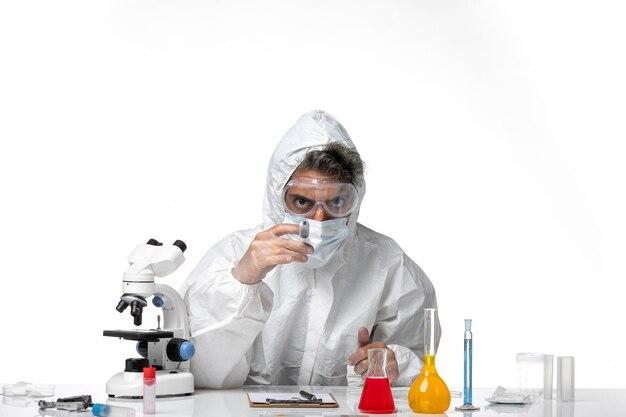
[[[388,350],[392,384],[411,384],[435,290],[396,242],[357,223],[364,195],[343,126],[302,116],[272,155],[263,223],[213,246],[181,288],[198,387],[352,384],[373,347]]]

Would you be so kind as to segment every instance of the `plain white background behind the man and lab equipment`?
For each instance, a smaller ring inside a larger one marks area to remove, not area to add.
[[[126,256],[261,221],[274,146],[320,108],[367,163],[360,221],[437,289],[437,366],[515,354],[624,387],[626,65],[618,1],[0,3],[0,380],[104,383],[134,343]],[[152,309],[156,310],[156,309]],[[156,314],[156,313],[155,313]],[[146,321],[154,326],[147,314]]]

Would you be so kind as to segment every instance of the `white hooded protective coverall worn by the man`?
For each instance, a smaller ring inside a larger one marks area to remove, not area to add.
[[[232,276],[255,235],[282,223],[281,191],[305,153],[330,142],[354,148],[329,114],[302,116],[270,161],[263,224],[213,246],[183,284],[198,387],[346,385],[355,380],[347,359],[359,347],[359,327],[394,351],[400,372],[395,385],[410,385],[419,374],[423,309],[437,306],[435,290],[392,239],[357,223],[362,179],[349,236],[326,265],[279,265],[254,285]]]

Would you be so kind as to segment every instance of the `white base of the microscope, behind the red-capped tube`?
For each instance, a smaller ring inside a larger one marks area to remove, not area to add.
[[[193,394],[193,374],[191,372],[170,373],[172,370],[157,371],[157,397],[182,396]],[[119,372],[107,381],[109,397],[143,398],[143,373]]]

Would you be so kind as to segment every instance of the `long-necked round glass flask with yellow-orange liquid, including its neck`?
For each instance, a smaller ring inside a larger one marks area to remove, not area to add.
[[[437,309],[424,309],[424,368],[409,390],[409,406],[416,413],[441,414],[450,407],[450,390],[435,368]]]

